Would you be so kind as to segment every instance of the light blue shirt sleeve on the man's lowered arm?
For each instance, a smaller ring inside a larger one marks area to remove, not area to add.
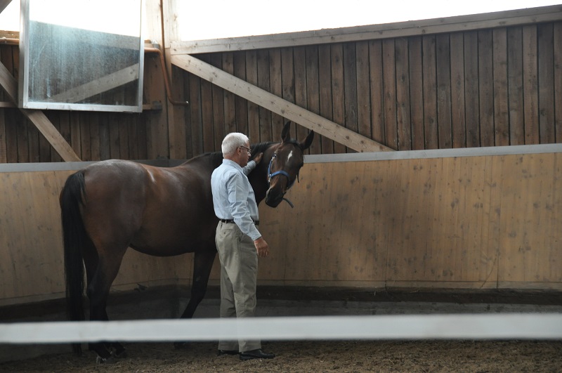
[[[254,162],[255,164],[255,162]],[[230,205],[230,212],[233,215],[234,222],[244,235],[248,235],[252,240],[257,240],[261,237],[261,233],[251,220],[250,211],[247,206],[248,192],[244,188],[244,180],[242,174],[235,173],[226,183],[228,190],[228,204]]]

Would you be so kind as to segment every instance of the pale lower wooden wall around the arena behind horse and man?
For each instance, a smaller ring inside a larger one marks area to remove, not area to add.
[[[0,173],[0,305],[64,296],[58,193],[70,171]],[[259,284],[562,290],[562,148],[307,162],[295,207],[260,206]],[[25,248],[25,249],[22,249]],[[129,250],[113,289],[190,284],[192,255]],[[211,284],[218,284],[218,261]]]

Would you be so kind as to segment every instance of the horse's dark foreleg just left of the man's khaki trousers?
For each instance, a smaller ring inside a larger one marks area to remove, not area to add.
[[[215,247],[195,252],[195,256],[193,258],[191,298],[188,306],[185,307],[185,310],[181,315],[182,319],[192,318],[195,313],[195,309],[197,309],[197,306],[199,306],[199,303],[203,300],[205,293],[207,292],[207,283],[209,282],[209,275],[211,275],[211,269],[213,268],[215,256]],[[182,348],[185,346],[185,342],[176,342],[174,343],[174,346],[176,348]]]

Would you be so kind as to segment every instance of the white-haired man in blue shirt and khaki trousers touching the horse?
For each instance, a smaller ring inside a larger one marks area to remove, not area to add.
[[[247,174],[261,161],[249,161],[249,140],[243,133],[229,133],[223,140],[223,164],[211,176],[216,216],[215,242],[221,261],[221,318],[253,318],[256,309],[258,256],[269,247],[259,230],[259,212]],[[218,355],[240,355],[240,360],[272,359],[261,351],[261,341],[219,341]]]

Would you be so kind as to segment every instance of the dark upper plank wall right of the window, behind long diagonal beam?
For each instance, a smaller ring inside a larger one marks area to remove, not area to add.
[[[195,57],[394,150],[562,141],[562,22]],[[183,86],[188,152],[234,129],[277,136],[277,114],[191,74]],[[332,152],[346,149],[311,148]]]

